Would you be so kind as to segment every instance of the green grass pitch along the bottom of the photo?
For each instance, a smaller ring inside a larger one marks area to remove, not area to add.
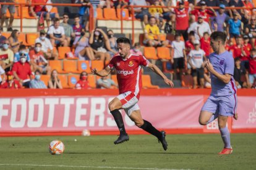
[[[48,145],[59,139],[62,155],[50,155]],[[75,142],[75,139],[77,141]],[[167,135],[168,150],[150,135],[1,137],[0,169],[255,169],[256,135],[231,134],[233,154],[220,156],[219,134]]]

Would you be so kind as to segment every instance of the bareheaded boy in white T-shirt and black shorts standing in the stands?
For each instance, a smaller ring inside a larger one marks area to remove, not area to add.
[[[177,79],[177,71],[179,70],[179,79],[182,79],[182,68],[184,63],[187,63],[187,56],[185,50],[185,43],[181,41],[181,35],[175,34],[175,40],[171,42],[171,49],[174,50],[174,54],[171,54],[171,63],[174,68],[174,79]]]

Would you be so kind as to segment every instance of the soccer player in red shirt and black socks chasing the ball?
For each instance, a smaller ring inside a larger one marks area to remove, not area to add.
[[[162,71],[145,59],[143,55],[130,54],[130,40],[128,38],[118,38],[116,42],[119,55],[114,56],[105,69],[98,71],[94,68],[92,70],[92,74],[104,77],[108,76],[116,68],[119,95],[108,104],[108,108],[120,131],[120,136],[114,141],[114,144],[121,144],[129,140],[119,111],[119,109],[123,108],[136,126],[156,136],[163,145],[164,150],[167,150],[168,144],[165,140],[165,132],[158,131],[150,122],[142,119],[140,108],[137,104],[140,98],[140,89],[142,88],[142,66],[148,67],[160,75],[169,86],[173,87],[173,82],[166,78]]]

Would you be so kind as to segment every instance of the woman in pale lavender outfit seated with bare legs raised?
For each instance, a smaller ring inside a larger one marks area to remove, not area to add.
[[[93,49],[89,46],[89,39],[84,30],[81,32],[80,38],[75,39],[73,45],[75,46],[75,56],[79,57],[79,60],[95,60]]]

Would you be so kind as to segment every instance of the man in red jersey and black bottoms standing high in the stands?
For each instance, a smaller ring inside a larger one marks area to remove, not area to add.
[[[172,21],[175,21],[176,33],[182,34],[187,40],[187,28],[189,28],[189,10],[184,8],[184,1],[179,1],[179,8],[174,9]],[[174,23],[174,22],[173,22]]]

